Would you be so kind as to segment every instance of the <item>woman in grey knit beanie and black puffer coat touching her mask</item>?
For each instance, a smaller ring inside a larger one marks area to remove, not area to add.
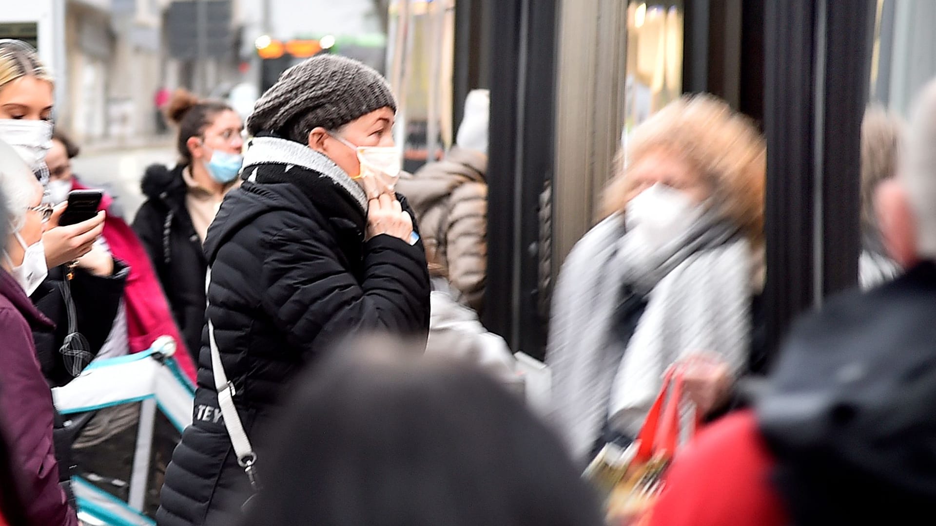
[[[238,518],[256,492],[245,468],[260,479],[271,469],[262,439],[283,387],[329,345],[373,330],[425,344],[429,272],[409,207],[393,192],[395,111],[379,73],[329,54],[287,69],[257,101],[245,182],[205,242],[195,418],[166,472],[160,526]],[[219,421],[231,393],[236,414]],[[232,448],[235,417],[244,440],[261,441],[253,461]]]

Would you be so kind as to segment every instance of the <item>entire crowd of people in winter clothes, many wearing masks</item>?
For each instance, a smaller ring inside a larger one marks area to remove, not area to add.
[[[909,124],[867,110],[860,286],[770,358],[765,139],[711,95],[640,124],[560,272],[539,404],[479,321],[487,91],[413,174],[388,82],[349,58],[287,69],[245,121],[161,94],[178,162],[131,221],[72,172],[54,87],[0,40],[0,525],[87,519],[53,389],[164,336],[195,387],[159,526],[863,524],[936,500],[936,81]],[[104,441],[136,417],[94,413]]]

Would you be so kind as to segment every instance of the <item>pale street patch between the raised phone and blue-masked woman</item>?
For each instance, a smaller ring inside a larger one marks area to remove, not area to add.
[[[72,159],[72,171],[88,186],[107,185],[124,211],[127,223],[133,220],[145,200],[139,182],[146,167],[154,163],[172,166],[177,155],[166,140],[156,147],[105,149],[81,152]]]

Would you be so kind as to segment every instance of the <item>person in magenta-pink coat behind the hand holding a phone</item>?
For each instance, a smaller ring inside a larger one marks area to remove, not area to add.
[[[52,204],[65,202],[72,190],[86,190],[72,172],[71,160],[80,153],[80,147],[62,129],[52,132],[52,146],[46,155],[49,167],[49,195]],[[176,328],[168,300],[156,276],[150,258],[137,234],[126,224],[116,199],[105,193],[100,210],[107,212],[104,231],[98,241],[112,256],[127,263],[129,274],[124,287],[124,301],[114,320],[108,342],[98,358],[139,353],[152,346],[163,335],[171,336],[182,349],[184,342]],[[195,364],[188,353],[179,353],[176,360],[182,370],[195,380]]]

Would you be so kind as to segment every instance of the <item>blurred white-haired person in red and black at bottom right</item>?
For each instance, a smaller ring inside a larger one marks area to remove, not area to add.
[[[875,196],[904,270],[792,330],[753,411],[676,458],[653,525],[922,524],[936,502],[936,81]]]

